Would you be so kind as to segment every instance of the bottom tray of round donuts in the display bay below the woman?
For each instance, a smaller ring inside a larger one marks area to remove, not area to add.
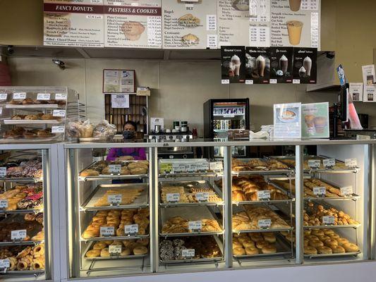
[[[149,238],[90,242],[84,252],[89,260],[138,259],[149,253]]]

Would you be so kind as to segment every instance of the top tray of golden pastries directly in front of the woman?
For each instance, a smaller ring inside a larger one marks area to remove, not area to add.
[[[147,178],[149,161],[96,161],[80,172],[80,180]]]

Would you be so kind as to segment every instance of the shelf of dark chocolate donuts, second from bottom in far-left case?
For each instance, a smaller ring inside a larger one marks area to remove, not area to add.
[[[0,245],[35,245],[43,240],[42,212],[11,214],[0,221]]]

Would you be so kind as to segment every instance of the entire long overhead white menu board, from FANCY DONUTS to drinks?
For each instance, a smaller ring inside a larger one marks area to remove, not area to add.
[[[44,45],[320,49],[321,0],[44,0]]]

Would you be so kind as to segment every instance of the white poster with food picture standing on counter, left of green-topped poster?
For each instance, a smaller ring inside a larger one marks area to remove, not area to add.
[[[274,104],[274,139],[301,138],[301,103]]]

